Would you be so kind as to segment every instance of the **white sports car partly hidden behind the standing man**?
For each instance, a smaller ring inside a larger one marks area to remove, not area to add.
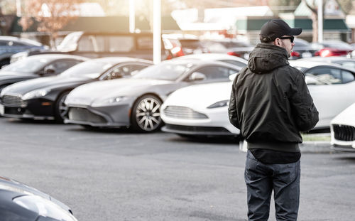
[[[355,72],[340,65],[290,61],[302,70],[320,112],[315,129],[329,128],[330,121],[355,102]],[[182,136],[239,135],[229,123],[227,106],[231,82],[194,85],[173,92],[163,104],[163,131]]]

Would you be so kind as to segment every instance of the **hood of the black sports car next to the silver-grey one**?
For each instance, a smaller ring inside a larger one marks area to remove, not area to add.
[[[38,90],[42,88],[55,88],[63,86],[78,85],[87,82],[87,78],[77,78],[77,77],[39,77],[32,80],[25,80],[23,82],[17,82],[9,87],[6,87],[3,94],[14,94],[14,95],[24,95],[27,92],[33,90]]]

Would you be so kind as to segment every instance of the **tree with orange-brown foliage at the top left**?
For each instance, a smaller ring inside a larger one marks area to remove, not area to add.
[[[24,31],[36,21],[37,31],[49,33],[53,47],[58,31],[77,18],[77,6],[82,0],[26,0],[23,16],[18,22]]]

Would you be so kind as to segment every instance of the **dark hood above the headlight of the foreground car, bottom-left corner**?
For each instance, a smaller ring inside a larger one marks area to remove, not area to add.
[[[59,200],[50,197],[50,195],[42,193],[40,190],[32,188],[18,181],[11,180],[9,178],[0,176],[0,190],[9,190],[18,193],[18,195],[39,195],[42,198],[51,200],[53,203],[60,205],[60,207],[62,207],[64,210],[70,211],[70,207],[67,207],[67,205],[60,202]]]

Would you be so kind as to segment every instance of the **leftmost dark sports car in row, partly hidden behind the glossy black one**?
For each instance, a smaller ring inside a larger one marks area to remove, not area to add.
[[[87,58],[76,55],[34,55],[0,70],[0,91],[13,83],[37,77],[58,75]]]

